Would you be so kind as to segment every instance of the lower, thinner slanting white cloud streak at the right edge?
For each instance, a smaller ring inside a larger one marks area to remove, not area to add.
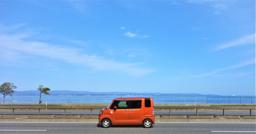
[[[193,77],[194,78],[198,78],[198,77],[214,75],[214,74],[218,74],[218,73],[220,73],[222,71],[226,71],[226,70],[230,70],[230,69],[236,69],[236,68],[241,68],[243,66],[250,65],[250,64],[255,64],[255,59],[251,59],[251,60],[248,60],[248,61],[236,64],[236,65],[231,65],[231,66],[228,66],[226,68],[217,69],[217,70],[214,70],[214,71],[211,71],[211,72],[208,72],[208,73],[204,73],[204,74],[200,74],[200,75],[195,75]]]

